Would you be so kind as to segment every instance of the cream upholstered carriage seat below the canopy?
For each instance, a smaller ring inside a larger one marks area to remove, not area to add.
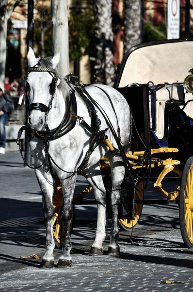
[[[152,88],[150,85],[149,91],[149,110],[150,110],[150,128],[154,130],[154,133],[158,139],[162,139],[164,135],[164,111],[165,103],[174,99],[179,102],[186,102],[190,99],[193,99],[192,93],[185,93],[184,87],[182,84],[161,84],[155,86],[155,94],[153,94]],[[183,105],[179,105],[180,108],[183,108]],[[184,108],[187,116],[193,118],[193,102],[189,102]]]

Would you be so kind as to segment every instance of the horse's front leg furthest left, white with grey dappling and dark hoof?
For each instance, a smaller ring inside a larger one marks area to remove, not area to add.
[[[55,246],[52,233],[52,221],[54,217],[54,208],[52,204],[52,197],[54,192],[53,179],[50,175],[50,177],[48,177],[46,180],[39,170],[36,170],[35,174],[43,194],[43,213],[46,225],[46,253],[42,258],[41,267],[52,268],[54,267],[53,249]]]

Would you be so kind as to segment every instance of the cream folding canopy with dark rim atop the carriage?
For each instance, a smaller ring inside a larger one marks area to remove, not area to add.
[[[193,68],[193,41],[142,46],[127,58],[118,87],[129,83],[183,82]]]

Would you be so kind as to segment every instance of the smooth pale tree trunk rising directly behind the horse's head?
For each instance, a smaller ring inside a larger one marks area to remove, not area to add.
[[[69,74],[68,1],[52,0],[52,54],[61,52],[58,69],[63,76]]]

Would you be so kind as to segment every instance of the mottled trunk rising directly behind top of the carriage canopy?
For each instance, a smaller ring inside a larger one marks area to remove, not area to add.
[[[141,0],[124,0],[124,53],[141,43]]]

